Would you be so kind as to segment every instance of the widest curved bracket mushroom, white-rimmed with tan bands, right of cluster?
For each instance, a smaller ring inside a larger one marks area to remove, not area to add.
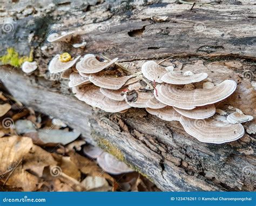
[[[171,84],[157,85],[154,96],[165,105],[180,109],[193,109],[200,106],[211,105],[226,99],[237,88],[233,80],[225,80],[210,89],[197,88],[191,91],[179,90]]]

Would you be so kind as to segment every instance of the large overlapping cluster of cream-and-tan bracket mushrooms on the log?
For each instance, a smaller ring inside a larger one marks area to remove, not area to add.
[[[207,73],[180,74],[173,67],[146,61],[142,72],[126,74],[118,58],[104,60],[93,54],[60,61],[57,54],[50,64],[51,73],[62,72],[79,100],[106,112],[126,112],[130,107],[145,108],[165,121],[179,121],[185,131],[201,142],[224,143],[241,138],[241,122],[252,116],[235,112],[224,118],[215,115],[214,104],[229,97],[237,88],[233,80],[215,85],[204,82],[203,88],[193,83],[207,79]],[[143,76],[142,76],[143,74]],[[147,80],[150,82],[148,82]],[[152,89],[153,88],[153,89]]]

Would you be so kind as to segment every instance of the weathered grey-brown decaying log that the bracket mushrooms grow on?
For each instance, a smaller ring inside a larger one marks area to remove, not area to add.
[[[238,93],[233,99],[242,97],[246,101],[239,100],[235,106],[247,108],[245,113],[255,118],[253,78],[248,80],[243,75],[255,71],[255,5],[250,1],[222,1],[214,6],[194,5],[190,10],[191,5],[176,1],[47,2],[48,6],[41,9],[17,3],[0,12],[3,17],[15,17],[14,30],[1,36],[0,54],[15,47],[20,54],[28,55],[33,46],[39,65],[32,75],[1,66],[2,81],[15,98],[68,122],[94,145],[116,151],[120,159],[124,157],[162,190],[253,190],[254,134],[231,143],[207,144],[187,135],[180,123],[162,121],[145,109],[132,108],[124,114],[92,109],[73,97],[66,80],[57,77],[58,81],[53,81],[56,76],[48,73],[47,64],[56,53],[94,53],[118,57],[122,65],[137,72],[144,60],[159,62],[173,56],[163,65],[207,72],[214,84],[224,79],[237,81]],[[53,30],[76,30],[79,35],[73,42],[86,40],[85,50],[67,43],[47,43],[46,35]],[[44,45],[48,49],[41,50]],[[243,96],[239,91],[245,88],[249,94]],[[217,108],[232,105],[233,99]],[[245,168],[251,174],[245,173]]]

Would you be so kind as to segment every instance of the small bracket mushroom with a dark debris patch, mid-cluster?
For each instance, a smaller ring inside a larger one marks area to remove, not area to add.
[[[153,93],[133,90],[126,92],[124,97],[127,104],[129,104],[131,107],[146,108],[147,101],[153,97]]]

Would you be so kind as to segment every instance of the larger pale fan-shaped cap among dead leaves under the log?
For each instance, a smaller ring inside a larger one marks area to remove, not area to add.
[[[117,160],[116,157],[106,152],[97,158],[97,162],[102,169],[113,175],[131,173],[133,171],[124,162]]]

